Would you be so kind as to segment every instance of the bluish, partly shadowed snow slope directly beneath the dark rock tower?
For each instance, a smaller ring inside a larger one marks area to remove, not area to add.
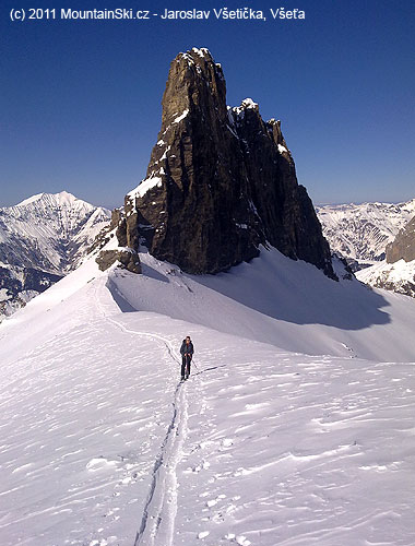
[[[415,301],[356,281],[333,282],[303,261],[262,250],[229,273],[192,276],[140,254],[137,282],[114,274],[112,292],[135,309],[188,320],[307,354],[413,360]]]

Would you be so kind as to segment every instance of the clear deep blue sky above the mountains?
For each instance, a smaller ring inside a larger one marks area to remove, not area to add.
[[[25,21],[12,8],[262,9],[266,22]],[[272,21],[270,8],[305,21]],[[315,203],[415,197],[415,25],[410,0],[3,0],[0,206],[62,189],[120,205],[144,176],[170,61],[221,62],[227,102],[282,120]]]

